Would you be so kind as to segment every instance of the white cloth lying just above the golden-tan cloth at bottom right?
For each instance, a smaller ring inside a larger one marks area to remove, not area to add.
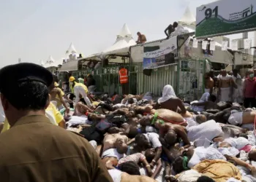
[[[203,160],[214,160],[214,159],[221,159],[221,160],[227,160],[217,149],[214,149],[213,147],[197,147],[194,149],[194,154],[189,160],[189,163],[187,166],[189,168],[194,167],[195,165],[199,164]]]

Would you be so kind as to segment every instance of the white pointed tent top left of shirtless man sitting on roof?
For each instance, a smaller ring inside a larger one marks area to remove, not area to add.
[[[102,55],[127,55],[129,47],[135,45],[136,42],[132,38],[132,33],[129,31],[125,23],[120,33],[117,35],[116,42],[102,52]]]

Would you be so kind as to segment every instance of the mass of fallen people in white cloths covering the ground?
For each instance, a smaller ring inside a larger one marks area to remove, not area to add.
[[[102,100],[94,111],[77,103],[66,124],[94,146],[113,181],[256,181],[256,111],[209,93],[183,103],[170,85],[156,101],[149,92]]]

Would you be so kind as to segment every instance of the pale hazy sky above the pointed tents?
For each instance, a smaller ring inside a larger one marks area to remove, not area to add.
[[[138,31],[148,41],[162,39],[187,6],[195,15],[196,7],[211,1],[1,0],[0,67],[18,58],[39,63],[53,55],[58,60],[71,42],[83,55],[101,52],[114,43],[124,23],[135,39]]]

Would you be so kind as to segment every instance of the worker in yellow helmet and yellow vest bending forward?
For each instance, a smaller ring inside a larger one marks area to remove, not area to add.
[[[87,106],[89,108],[92,108],[91,100],[88,98],[88,89],[86,85],[75,82],[75,77],[70,76],[69,77],[69,83],[70,83],[70,88],[71,92],[75,95],[75,103],[78,103],[80,100],[80,95],[82,95],[83,99],[86,101]]]

